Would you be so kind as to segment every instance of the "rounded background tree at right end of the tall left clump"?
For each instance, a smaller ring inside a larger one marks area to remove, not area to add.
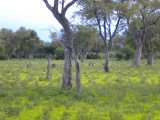
[[[36,49],[42,44],[42,41],[38,37],[36,31],[20,27],[15,33],[17,39],[16,56],[19,54],[20,59],[22,56],[29,58],[29,55],[33,55]]]

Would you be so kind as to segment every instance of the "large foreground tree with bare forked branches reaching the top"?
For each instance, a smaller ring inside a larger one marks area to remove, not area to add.
[[[66,18],[67,10],[75,4],[78,0],[71,0],[66,3],[66,0],[54,0],[54,5],[50,5],[48,0],[43,0],[47,8],[52,12],[53,16],[62,25],[66,36],[67,43],[65,44],[65,61],[64,61],[64,73],[63,73],[63,88],[67,86],[72,87],[72,51],[73,51],[73,39],[74,34],[70,28],[68,19]]]

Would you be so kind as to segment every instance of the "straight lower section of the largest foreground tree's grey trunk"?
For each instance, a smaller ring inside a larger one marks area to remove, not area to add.
[[[72,49],[65,47],[63,89],[67,86],[72,87]]]

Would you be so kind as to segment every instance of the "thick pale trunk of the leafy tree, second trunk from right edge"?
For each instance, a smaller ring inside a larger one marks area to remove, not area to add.
[[[142,44],[136,45],[136,56],[135,56],[134,61],[133,61],[134,66],[139,66],[140,65],[141,56],[142,56],[142,47],[143,47]]]

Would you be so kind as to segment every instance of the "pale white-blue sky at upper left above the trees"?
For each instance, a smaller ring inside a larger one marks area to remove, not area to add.
[[[73,7],[69,8],[67,18],[73,10]],[[43,0],[0,0],[0,29],[8,28],[15,32],[21,26],[35,30],[40,39],[47,42],[51,42],[49,27],[53,26],[56,30],[62,28]]]

